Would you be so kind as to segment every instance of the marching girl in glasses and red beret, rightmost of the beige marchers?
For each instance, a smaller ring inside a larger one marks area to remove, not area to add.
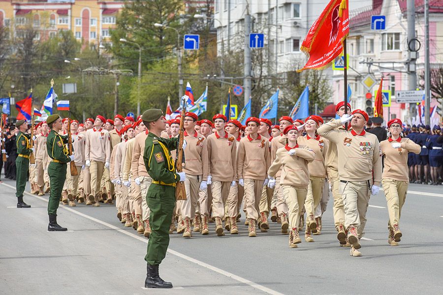
[[[400,215],[406,201],[406,192],[409,185],[408,153],[419,154],[421,147],[409,138],[400,137],[403,127],[400,119],[390,120],[387,127],[391,137],[380,143],[381,154],[384,155],[381,184],[383,185],[389,213],[388,244],[397,246],[402,237],[399,228]]]

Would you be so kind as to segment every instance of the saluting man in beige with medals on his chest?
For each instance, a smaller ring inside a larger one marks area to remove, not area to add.
[[[352,119],[351,131],[336,129]],[[381,182],[381,151],[377,136],[365,132],[368,114],[355,110],[351,116],[333,119],[317,129],[337,145],[340,193],[345,207],[345,227],[352,245],[351,256],[361,256],[359,238],[364,235],[369,198],[377,195]]]

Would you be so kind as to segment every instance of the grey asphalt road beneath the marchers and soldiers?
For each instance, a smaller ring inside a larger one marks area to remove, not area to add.
[[[209,236],[173,234],[160,275],[174,288],[146,290],[147,239],[124,228],[114,206],[61,205],[58,221],[69,231],[49,233],[48,194],[26,194],[32,208],[18,209],[15,181],[6,180],[0,184],[0,294],[441,294],[443,189],[411,184],[409,191],[400,246],[387,244],[380,190],[370,201],[362,257],[338,246],[330,203],[321,235],[314,243],[302,239],[296,249],[276,223],[255,238],[244,225],[238,236],[217,237],[214,224]]]

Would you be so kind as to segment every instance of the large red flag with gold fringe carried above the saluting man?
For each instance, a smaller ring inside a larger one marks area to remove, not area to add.
[[[309,59],[297,72],[328,67],[343,52],[343,40],[348,33],[348,0],[331,0],[303,40],[300,50]]]

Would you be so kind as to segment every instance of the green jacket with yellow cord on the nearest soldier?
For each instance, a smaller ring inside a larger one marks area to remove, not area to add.
[[[146,171],[154,181],[176,183],[180,176],[175,173],[171,150],[177,148],[178,138],[165,139],[149,133],[145,141],[143,161]]]

